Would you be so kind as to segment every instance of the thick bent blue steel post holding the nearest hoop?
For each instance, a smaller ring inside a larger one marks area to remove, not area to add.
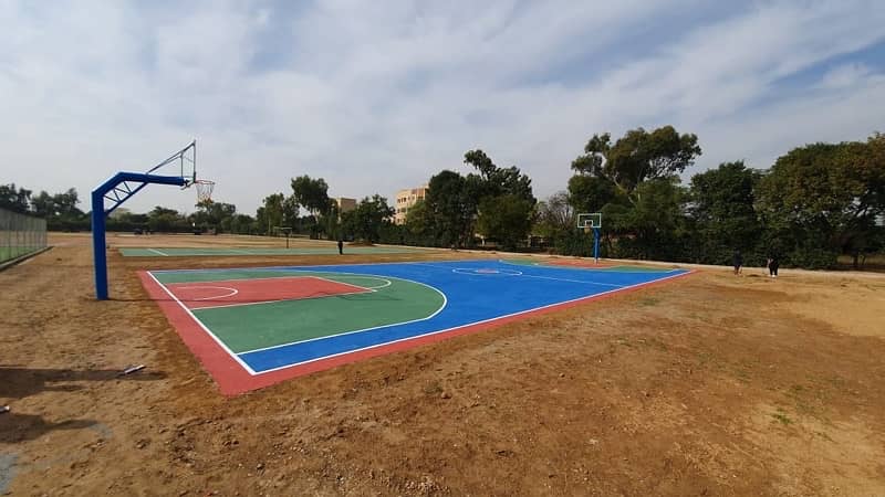
[[[135,186],[128,186],[132,182]],[[117,188],[123,183],[124,188]],[[171,184],[184,187],[187,184],[180,176],[144,175],[140,172],[117,172],[101,187],[92,191],[92,251],[95,261],[95,298],[107,300],[107,252],[105,247],[105,219],[107,214],[118,208],[129,197],[142,190],[147,183]],[[113,194],[108,194],[113,193]],[[114,202],[108,209],[104,208],[104,200]]]

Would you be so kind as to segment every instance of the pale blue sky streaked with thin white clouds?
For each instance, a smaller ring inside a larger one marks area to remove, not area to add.
[[[215,200],[253,215],[301,175],[393,204],[475,148],[543,199],[596,133],[698,135],[687,181],[885,131],[882,0],[0,0],[0,183],[84,211],[195,138]]]

